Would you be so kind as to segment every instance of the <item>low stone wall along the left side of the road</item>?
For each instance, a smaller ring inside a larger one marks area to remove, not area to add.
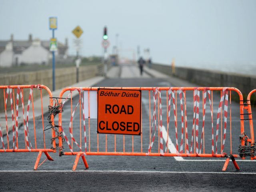
[[[79,81],[92,78],[97,75],[103,74],[103,65],[88,65],[80,66],[79,68]],[[76,67],[56,68],[55,70],[55,89],[67,87],[76,83]],[[30,85],[30,84],[43,84],[50,88],[52,91],[52,70],[38,70],[34,72],[17,72],[10,74],[0,74],[0,85]],[[43,95],[47,94],[46,91],[42,92]],[[24,90],[24,101],[28,100],[29,89]],[[33,97],[38,98],[39,91],[33,92]],[[4,96],[3,91],[0,90],[0,109],[4,109]],[[15,93],[16,98],[16,93]],[[10,99],[8,99],[10,102]],[[26,104],[25,104],[26,105]]]

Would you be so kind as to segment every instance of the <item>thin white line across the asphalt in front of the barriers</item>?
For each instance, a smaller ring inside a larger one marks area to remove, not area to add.
[[[189,172],[189,171],[126,171],[126,170],[0,170],[0,172],[110,172],[110,173],[197,173],[197,174],[256,174],[256,172]]]

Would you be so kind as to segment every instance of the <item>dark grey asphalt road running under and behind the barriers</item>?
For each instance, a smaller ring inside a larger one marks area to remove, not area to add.
[[[130,68],[129,70],[127,68]],[[132,78],[128,78],[127,73],[132,73]],[[138,68],[126,66],[122,71],[121,78],[105,79],[94,85],[106,87],[161,87],[172,86],[168,79],[155,79],[147,77],[145,74],[140,78]],[[122,75],[125,74],[125,75]],[[151,92],[151,122],[153,112],[153,101]],[[191,142],[192,119],[193,119],[193,97],[192,92],[186,94],[187,115],[188,115],[188,138],[189,147]],[[202,98],[202,93],[201,93]],[[216,112],[218,110],[219,93],[214,94],[214,137],[216,135]],[[184,102],[184,101],[183,101]],[[78,97],[73,98],[73,109],[78,103]],[[181,116],[180,102],[177,98],[177,119],[178,121],[178,144],[181,142]],[[147,152],[149,145],[149,108],[148,92],[142,92],[142,139],[134,136],[134,152],[140,152],[141,141],[142,150]],[[209,112],[208,100],[206,101],[206,122],[205,122],[205,153],[211,153],[211,116]],[[230,106],[229,106],[230,107]],[[172,109],[172,107],[171,107]],[[202,105],[200,105],[202,111]],[[157,111],[158,112],[158,111]],[[71,140],[68,131],[70,121],[70,102],[64,106],[62,125],[64,131]],[[163,125],[167,129],[166,123],[166,92],[162,92],[162,114]],[[232,151],[237,153],[239,145],[238,135],[240,134],[239,105],[232,102]],[[176,137],[174,130],[174,116],[171,112],[169,136],[175,145]],[[45,117],[46,118],[46,117]],[[224,115],[223,115],[224,127]],[[76,111],[73,122],[74,138],[80,143],[80,114]],[[31,122],[30,122],[31,123]],[[96,119],[90,120],[90,151],[106,151],[106,135],[99,135],[97,144]],[[42,122],[36,120],[36,134],[42,135]],[[88,120],[86,120],[87,141],[89,140]],[[199,135],[202,131],[202,112],[200,114]],[[222,130],[223,132],[224,130]],[[24,142],[24,133],[19,131],[20,143]],[[50,130],[45,131],[46,144],[50,146]],[[32,133],[31,133],[32,134]],[[82,135],[83,136],[83,135]],[[230,153],[230,126],[228,118],[227,138],[224,152]],[[23,140],[22,140],[23,139]],[[83,138],[82,138],[83,139]],[[116,151],[122,152],[123,136],[116,136]],[[215,139],[215,138],[214,138]],[[222,138],[223,139],[223,138]],[[38,136],[38,148],[43,147],[42,136]],[[201,135],[198,138],[199,144]],[[220,136],[218,150],[220,150]],[[32,146],[34,146],[34,142]],[[89,150],[89,141],[87,143]],[[107,136],[107,151],[114,151],[114,135]],[[99,149],[98,147],[99,146]],[[165,141],[164,141],[165,146]],[[69,152],[69,148],[64,143],[64,151]],[[84,150],[84,144],[82,144]],[[73,142],[74,151],[78,147]],[[169,152],[173,150],[170,146]],[[132,151],[132,136],[125,136],[125,151]],[[193,148],[194,151],[194,148]],[[158,132],[154,142],[152,152],[158,152]],[[220,153],[220,151],[218,151]],[[86,156],[89,169],[85,170],[82,160],[80,160],[77,171],[72,172],[75,156],[62,156],[50,154],[54,158],[53,162],[46,161],[33,171],[36,153],[2,153],[0,154],[0,191],[256,191],[254,190],[254,179],[256,179],[256,164],[251,161],[238,161],[240,171],[236,171],[230,162],[226,173],[223,173],[222,166],[225,159],[220,158],[173,158],[173,157],[151,157],[151,156]],[[44,157],[42,158],[44,159]],[[42,160],[41,160],[42,161]]]

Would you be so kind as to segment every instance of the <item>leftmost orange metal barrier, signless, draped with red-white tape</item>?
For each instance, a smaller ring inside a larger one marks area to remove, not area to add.
[[[52,145],[47,147],[46,142],[48,137],[55,138],[55,132],[52,130],[50,135],[45,134],[44,113],[43,110],[43,94],[48,94],[50,97],[50,106],[53,104],[52,93],[50,89],[44,85],[13,85],[0,86],[0,102],[4,103],[0,108],[0,113],[5,116],[5,125],[0,124],[0,137],[2,146],[0,152],[38,152],[38,157],[34,166],[36,170],[43,162],[53,160],[48,152],[56,152],[56,142],[52,141]],[[40,98],[41,108],[38,108],[39,103],[34,106],[34,97]],[[47,99],[48,101],[48,99]],[[35,114],[40,111],[40,114]],[[39,118],[36,118],[39,117]],[[53,116],[49,117],[54,126]],[[41,120],[42,119],[42,120]],[[2,127],[1,127],[2,126]],[[4,128],[6,126],[6,128]],[[20,127],[20,130],[18,128]],[[24,131],[24,136],[22,132]],[[19,134],[21,131],[21,134]],[[6,134],[6,136],[3,136]],[[6,138],[5,138],[6,137]],[[38,142],[39,141],[39,142]],[[39,166],[42,153],[46,155]]]

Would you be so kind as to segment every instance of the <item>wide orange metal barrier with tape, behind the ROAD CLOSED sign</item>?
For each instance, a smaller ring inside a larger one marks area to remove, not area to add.
[[[90,106],[89,93],[98,91],[98,88],[63,89],[58,102],[60,104],[63,102],[64,112],[68,110],[71,115],[65,114],[64,118],[64,114],[59,113],[59,132],[62,134],[62,138],[59,137],[60,156],[76,155],[73,170],[76,170],[80,157],[88,168],[86,155],[227,158],[222,170],[226,170],[231,158],[236,169],[239,169],[234,158],[240,157],[240,154],[234,152],[234,148],[236,144],[245,146],[245,140],[242,139],[240,142],[238,140],[238,136],[244,133],[243,97],[238,89],[230,87],[108,89],[142,91],[144,113],[141,115],[141,134],[140,136],[98,134],[96,120],[90,118],[90,107],[84,108],[84,102],[88,102]],[[88,94],[88,101],[84,101],[85,91]],[[73,92],[79,93],[78,98],[73,98]],[[238,94],[240,106],[233,104],[235,102],[232,102],[232,94]],[[89,117],[84,118],[86,110]],[[148,120],[144,116],[148,116],[146,117]],[[232,129],[232,126],[235,128]],[[235,140],[232,140],[232,135],[235,135]],[[63,138],[66,142],[63,142]],[[176,140],[174,150],[170,147],[171,140]],[[236,141],[235,145],[232,145],[234,141]],[[64,146],[65,149],[70,148],[70,152],[64,152]],[[244,158],[242,156],[242,159]]]

